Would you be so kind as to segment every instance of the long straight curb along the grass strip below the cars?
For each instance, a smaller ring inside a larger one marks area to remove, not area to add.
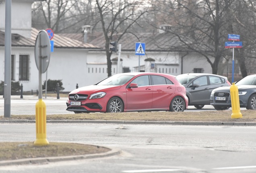
[[[0,120],[0,123],[35,123],[35,120]],[[47,120],[46,123],[101,123],[101,124],[142,124],[142,125],[225,125],[256,126],[256,122],[200,122],[200,121],[114,121],[114,120]]]

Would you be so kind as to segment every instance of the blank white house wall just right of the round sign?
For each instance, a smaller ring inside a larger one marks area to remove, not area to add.
[[[47,69],[47,79],[62,80],[63,91],[87,85],[87,50],[54,48]],[[46,72],[43,81],[46,80]]]

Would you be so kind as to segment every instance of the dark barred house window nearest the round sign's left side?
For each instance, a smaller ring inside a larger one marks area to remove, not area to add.
[[[28,55],[20,55],[19,80],[29,80],[29,56]]]

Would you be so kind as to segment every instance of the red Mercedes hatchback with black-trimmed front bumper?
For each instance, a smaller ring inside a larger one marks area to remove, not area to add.
[[[115,74],[70,92],[67,111],[74,113],[184,111],[186,89],[175,76],[162,73]]]

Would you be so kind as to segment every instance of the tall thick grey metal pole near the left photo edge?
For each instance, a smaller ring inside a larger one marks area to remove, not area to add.
[[[10,118],[11,89],[11,47],[12,47],[12,0],[5,1],[5,36],[4,36],[4,117]]]

